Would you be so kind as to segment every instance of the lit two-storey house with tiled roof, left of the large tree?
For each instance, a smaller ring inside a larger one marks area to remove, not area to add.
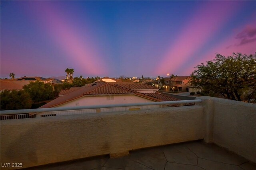
[[[166,84],[166,89],[171,90],[174,87],[174,90],[178,92],[188,92],[190,77],[189,76],[177,76],[174,78],[166,77],[164,78],[164,82]]]

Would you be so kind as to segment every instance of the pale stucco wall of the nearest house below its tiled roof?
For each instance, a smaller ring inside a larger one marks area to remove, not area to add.
[[[148,100],[146,98],[142,98],[139,96],[132,95],[110,95],[114,96],[113,100],[107,100],[107,96],[88,96],[78,98],[76,100],[72,100],[71,102],[67,102],[65,104],[59,105],[58,107],[70,107],[76,106],[76,103],[79,103],[80,106],[93,106],[98,105],[99,103],[102,105],[105,104],[126,104],[126,103],[146,103],[153,102],[152,100]]]

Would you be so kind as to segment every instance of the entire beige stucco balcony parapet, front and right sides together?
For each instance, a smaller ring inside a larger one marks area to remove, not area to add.
[[[196,99],[202,102],[195,106],[4,120],[1,163],[26,168],[106,154],[118,157],[200,139],[256,162],[256,105]]]

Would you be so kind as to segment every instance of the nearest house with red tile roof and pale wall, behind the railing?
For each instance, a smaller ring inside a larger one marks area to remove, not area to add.
[[[62,91],[61,93],[63,96],[52,100],[40,108],[178,100],[176,98],[157,93],[156,90],[158,89],[146,84],[137,85],[135,83],[132,84],[127,82],[98,81],[80,88]]]

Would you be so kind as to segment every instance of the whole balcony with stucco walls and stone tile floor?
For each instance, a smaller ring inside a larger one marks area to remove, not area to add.
[[[1,164],[38,166],[34,169],[255,169],[255,104],[197,99],[202,102],[195,106],[4,120]]]

